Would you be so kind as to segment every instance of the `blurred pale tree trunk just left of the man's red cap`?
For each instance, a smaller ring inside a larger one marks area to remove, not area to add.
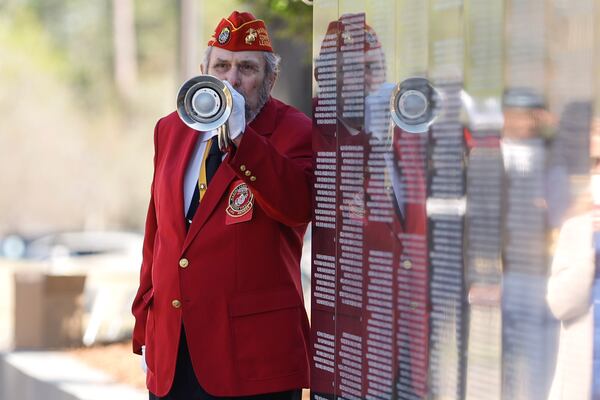
[[[200,73],[198,48],[198,15],[196,0],[179,0],[179,81]],[[201,2],[200,2],[201,3]]]

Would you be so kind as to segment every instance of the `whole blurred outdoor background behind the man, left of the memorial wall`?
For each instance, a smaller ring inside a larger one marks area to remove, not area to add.
[[[37,398],[8,371],[45,365],[18,358],[26,350],[75,355],[144,387],[127,340],[154,124],[236,9],[266,21],[283,57],[274,95],[310,113],[302,1],[0,0],[0,399]]]

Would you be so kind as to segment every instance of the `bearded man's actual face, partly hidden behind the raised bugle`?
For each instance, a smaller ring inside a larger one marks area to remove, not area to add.
[[[213,47],[203,73],[228,81],[246,100],[246,108],[258,111],[260,89],[265,84],[265,58],[261,51],[230,51]],[[272,84],[269,83],[270,92]]]

